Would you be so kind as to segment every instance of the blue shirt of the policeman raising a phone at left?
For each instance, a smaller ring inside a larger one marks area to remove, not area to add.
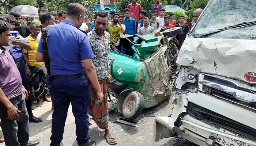
[[[21,41],[25,42],[25,43],[29,43],[29,41],[27,41],[25,38],[23,38],[18,31],[10,31],[11,35],[10,36],[14,36],[14,37],[20,37]],[[12,47],[12,49],[9,51],[12,58],[14,59],[14,62],[20,62],[24,59],[24,54],[23,51],[21,49],[20,46],[14,46]]]

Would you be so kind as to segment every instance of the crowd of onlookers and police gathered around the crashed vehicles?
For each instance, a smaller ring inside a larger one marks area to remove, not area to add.
[[[195,22],[200,12],[200,9],[194,12]],[[63,145],[70,103],[79,146],[96,145],[94,141],[88,142],[89,114],[97,126],[105,130],[106,142],[117,143],[109,128],[107,99],[107,83],[111,79],[110,44],[122,46],[114,37],[151,34],[160,27],[182,27],[182,32],[176,35],[176,45],[180,48],[193,24],[185,24],[184,15],[179,16],[178,23],[173,13],[165,16],[159,0],[153,6],[152,20],[146,17],[146,11],[136,0],[124,9],[124,16],[115,11],[109,14],[110,17],[99,10],[90,22],[83,5],[71,3],[66,11],[61,10],[58,14],[39,8],[39,18],[28,26],[22,23],[17,11],[0,15],[0,108],[3,111],[0,112],[0,125],[4,134],[0,142],[5,142],[6,146],[38,145],[39,140],[29,141],[29,122],[43,120],[33,115],[31,96],[34,96],[38,108],[42,106],[40,97],[52,102],[50,146]],[[109,18],[113,20],[109,22]],[[50,74],[44,64],[39,25],[49,35]]]

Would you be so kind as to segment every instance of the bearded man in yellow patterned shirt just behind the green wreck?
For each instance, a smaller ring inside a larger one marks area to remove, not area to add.
[[[120,37],[120,34],[122,33],[121,27],[117,25],[119,17],[120,15],[116,13],[113,15],[113,21],[109,22],[110,43],[112,43],[113,45],[115,45],[117,42],[117,39],[113,39],[113,37]]]

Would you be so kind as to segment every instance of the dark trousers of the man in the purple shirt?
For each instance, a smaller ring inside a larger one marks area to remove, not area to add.
[[[7,108],[0,103],[0,125],[4,134],[5,146],[26,146],[29,141],[29,114],[27,114],[25,95],[19,95],[11,99],[10,102],[27,117],[23,122],[7,120]]]

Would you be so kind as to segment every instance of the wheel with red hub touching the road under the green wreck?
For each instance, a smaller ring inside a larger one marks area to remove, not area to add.
[[[140,116],[144,108],[144,97],[140,92],[132,91],[123,103],[122,112],[125,118],[133,120]]]

